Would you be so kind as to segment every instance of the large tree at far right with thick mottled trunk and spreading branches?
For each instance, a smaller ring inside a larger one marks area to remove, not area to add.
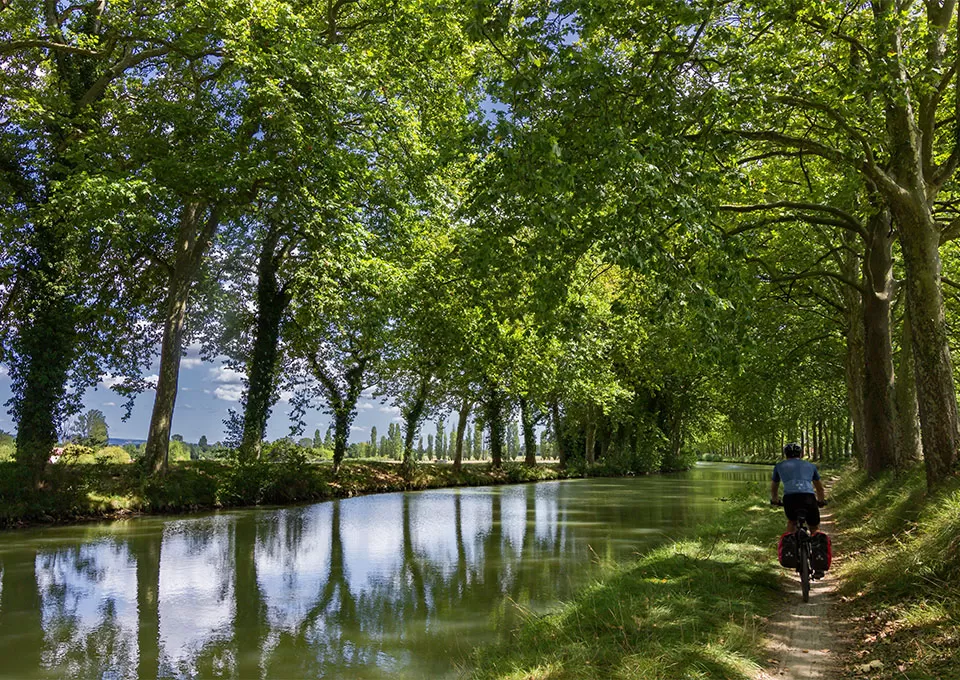
[[[931,0],[771,12],[768,3],[745,3],[734,35],[718,18],[716,42],[705,47],[718,64],[737,55],[736,73],[717,74],[731,84],[716,100],[736,112],[733,120],[725,117],[730,134],[756,142],[762,153],[820,157],[856,173],[889,210],[903,255],[930,486],[946,476],[957,449],[940,260],[952,223],[938,219],[939,197],[960,163],[956,55],[947,40],[956,30],[954,5]],[[826,62],[844,66],[825,78]]]

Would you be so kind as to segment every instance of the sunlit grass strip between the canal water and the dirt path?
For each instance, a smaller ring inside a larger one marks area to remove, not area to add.
[[[611,565],[559,611],[531,615],[508,643],[479,653],[475,677],[752,678],[780,597],[783,521],[761,498],[751,490],[695,536]]]

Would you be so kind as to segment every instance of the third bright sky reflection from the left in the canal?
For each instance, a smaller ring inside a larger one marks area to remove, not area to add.
[[[258,532],[254,552],[257,586],[274,633],[296,632],[320,598],[330,572],[331,508],[326,503],[261,518],[274,524],[266,537]]]

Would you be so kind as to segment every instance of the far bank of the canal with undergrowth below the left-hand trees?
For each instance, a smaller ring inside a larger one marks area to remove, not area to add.
[[[334,476],[327,463],[291,458],[238,464],[228,461],[171,463],[162,478],[144,475],[136,464],[51,465],[42,488],[31,490],[14,463],[0,463],[0,528],[118,519],[138,514],[178,514],[256,505],[289,505],[371,493],[454,486],[492,486],[585,476],[590,469],[540,464],[417,465],[405,475],[399,463],[345,461]]]

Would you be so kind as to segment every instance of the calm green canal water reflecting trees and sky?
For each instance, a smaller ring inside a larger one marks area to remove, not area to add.
[[[598,560],[677,537],[768,475],[702,463],[6,532],[0,677],[455,678]]]

